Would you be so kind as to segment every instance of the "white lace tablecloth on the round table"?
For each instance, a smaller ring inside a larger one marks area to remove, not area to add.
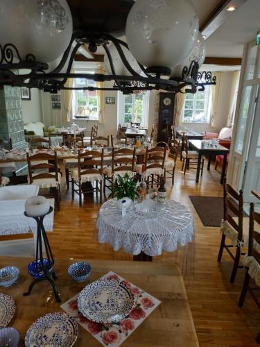
[[[138,255],[142,251],[150,256],[161,255],[162,251],[173,252],[177,244],[184,246],[191,242],[191,211],[174,200],[157,206],[157,216],[148,219],[135,206],[122,217],[114,199],[105,202],[96,221],[98,241],[110,243],[114,251],[123,248],[125,253]]]

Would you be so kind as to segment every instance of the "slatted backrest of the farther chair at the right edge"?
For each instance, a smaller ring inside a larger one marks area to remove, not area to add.
[[[237,232],[238,240],[243,240],[243,191],[239,190],[239,194],[226,183],[223,183],[224,198],[224,221],[227,221]],[[238,219],[238,223],[234,221],[234,217]]]

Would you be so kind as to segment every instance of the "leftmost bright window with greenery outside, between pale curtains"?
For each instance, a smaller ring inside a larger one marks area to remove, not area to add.
[[[89,71],[84,72],[86,74],[92,73]],[[74,87],[96,87],[96,82],[86,78],[76,78]],[[96,90],[74,90],[72,103],[73,118],[98,120],[98,95]]]

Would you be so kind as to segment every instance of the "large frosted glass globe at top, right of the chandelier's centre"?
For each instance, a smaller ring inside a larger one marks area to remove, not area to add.
[[[146,67],[173,67],[189,56],[198,37],[190,0],[138,0],[125,30],[131,53]]]

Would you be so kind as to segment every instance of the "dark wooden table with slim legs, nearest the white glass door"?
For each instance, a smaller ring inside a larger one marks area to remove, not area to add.
[[[189,140],[189,145],[191,146],[191,149],[196,151],[198,153],[198,164],[197,164],[197,172],[196,172],[196,183],[199,183],[200,180],[200,163],[202,155],[208,155],[209,160],[207,164],[207,170],[210,169],[211,164],[211,156],[212,155],[223,155],[223,164],[222,164],[222,171],[220,176],[220,183],[223,184],[224,178],[225,178],[225,169],[226,169],[226,163],[227,163],[227,154],[229,153],[229,149],[227,149],[224,146],[221,146],[220,144],[216,143],[213,144],[212,141],[203,141],[198,139],[191,139]]]

